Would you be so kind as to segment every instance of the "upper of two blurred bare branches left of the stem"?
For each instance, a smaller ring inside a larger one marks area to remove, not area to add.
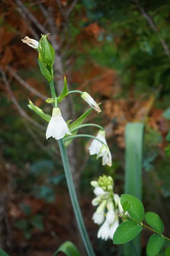
[[[24,81],[20,76],[17,75],[17,73],[10,67],[7,66],[7,69],[9,73],[20,83],[22,84],[27,90],[31,91],[31,93],[34,93],[35,95],[39,96],[41,99],[46,100],[47,96],[43,95],[42,93],[38,92],[36,89],[31,87],[26,81]]]

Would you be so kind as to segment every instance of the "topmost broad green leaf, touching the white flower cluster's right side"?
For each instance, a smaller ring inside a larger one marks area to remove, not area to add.
[[[143,221],[144,219],[144,207],[142,202],[133,195],[123,194],[120,198],[120,203],[123,204],[125,201],[130,202],[130,208],[128,209],[128,213],[131,218],[136,221]]]

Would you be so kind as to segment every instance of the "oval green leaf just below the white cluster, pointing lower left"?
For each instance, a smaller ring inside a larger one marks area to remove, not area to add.
[[[116,229],[113,236],[113,244],[125,244],[135,238],[142,231],[135,221],[122,222]]]

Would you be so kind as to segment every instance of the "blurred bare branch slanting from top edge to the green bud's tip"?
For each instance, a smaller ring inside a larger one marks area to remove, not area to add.
[[[41,23],[36,19],[36,17],[34,17],[34,15],[28,11],[28,9],[26,8],[26,6],[24,6],[24,4],[20,1],[20,0],[15,0],[15,2],[17,3],[17,5],[23,10],[23,12],[25,12],[25,14],[28,16],[28,18],[34,23],[35,26],[37,26],[38,29],[40,29],[40,31],[43,34],[48,34],[49,32],[45,29],[44,26],[41,25]]]

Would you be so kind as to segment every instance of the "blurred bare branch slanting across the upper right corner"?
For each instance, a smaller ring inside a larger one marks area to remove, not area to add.
[[[134,2],[136,3],[136,6],[138,7],[139,11],[141,12],[142,16],[147,20],[147,22],[149,23],[149,25],[151,26],[151,28],[156,32],[159,33],[159,29],[157,28],[157,26],[154,24],[152,18],[147,14],[147,12],[144,10],[143,7],[140,6],[139,1],[138,0],[134,0]],[[164,41],[163,38],[160,38],[160,42],[161,45],[166,53],[166,55],[169,57],[170,59],[170,49],[167,47],[166,42]]]

